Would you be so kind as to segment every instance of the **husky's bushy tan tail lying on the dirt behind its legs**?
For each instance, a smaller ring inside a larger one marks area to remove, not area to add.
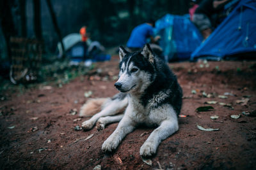
[[[102,107],[105,106],[108,101],[109,98],[88,99],[88,101],[81,107],[79,116],[92,117],[95,113],[101,111]]]

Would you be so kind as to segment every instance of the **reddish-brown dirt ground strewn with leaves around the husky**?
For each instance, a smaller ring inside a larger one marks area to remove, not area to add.
[[[62,88],[40,85],[22,95],[3,92],[0,169],[256,169],[256,62],[177,62],[170,67],[183,89],[181,115],[186,117],[179,118],[179,131],[159,145],[151,166],[139,151],[153,129],[131,132],[111,155],[101,145],[117,124],[102,131],[74,129],[88,119],[74,115],[88,99],[84,93],[116,94],[115,56]],[[214,109],[196,111],[200,106]],[[213,115],[218,118],[212,120]],[[219,131],[200,131],[196,124]]]

